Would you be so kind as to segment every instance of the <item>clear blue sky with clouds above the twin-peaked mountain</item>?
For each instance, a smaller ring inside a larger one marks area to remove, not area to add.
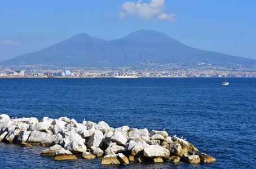
[[[0,0],[0,61],[78,33],[112,40],[139,29],[202,50],[256,59],[254,0]]]

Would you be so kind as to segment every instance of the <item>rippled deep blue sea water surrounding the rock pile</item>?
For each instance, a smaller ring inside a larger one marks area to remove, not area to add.
[[[100,158],[54,161],[41,146],[0,143],[1,168],[253,168],[256,166],[256,78],[0,79],[0,114],[104,121],[183,136],[215,163],[131,163]]]

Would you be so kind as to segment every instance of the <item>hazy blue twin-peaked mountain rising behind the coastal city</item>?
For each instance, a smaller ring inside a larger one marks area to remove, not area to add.
[[[198,50],[155,30],[138,30],[121,39],[105,41],[85,33],[43,50],[1,61],[0,65],[67,63],[70,66],[170,63],[171,59],[256,64],[256,60]]]

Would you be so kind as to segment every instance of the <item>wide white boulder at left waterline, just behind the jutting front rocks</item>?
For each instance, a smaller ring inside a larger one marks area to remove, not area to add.
[[[47,139],[48,137],[50,137],[50,135],[47,134],[46,132],[34,130],[31,132],[27,140],[27,143],[32,145],[39,145],[43,140]]]

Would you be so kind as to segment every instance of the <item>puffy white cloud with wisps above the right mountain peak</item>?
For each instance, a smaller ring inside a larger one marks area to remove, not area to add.
[[[138,17],[143,20],[167,20],[174,21],[176,14],[161,14],[165,10],[165,0],[150,0],[148,3],[126,1],[121,5],[122,11],[117,13],[118,19],[126,17]],[[158,15],[158,19],[154,19]]]

